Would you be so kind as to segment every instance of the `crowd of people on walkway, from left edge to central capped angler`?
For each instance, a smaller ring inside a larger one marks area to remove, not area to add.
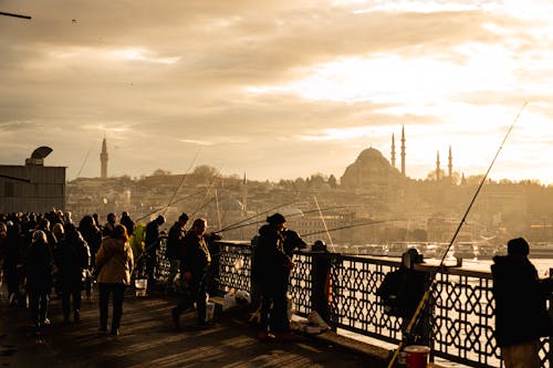
[[[7,285],[9,305],[30,311],[30,320],[38,333],[50,324],[49,303],[61,299],[63,324],[79,324],[82,295],[92,301],[93,284],[97,283],[98,329],[118,335],[123,302],[133,278],[147,278],[156,286],[160,260],[158,250],[167,239],[165,257],[169,273],[165,293],[175,291],[177,275],[186,293],[171,309],[179,328],[184,311],[196,308],[199,327],[210,327],[206,313],[208,291],[212,285],[213,241],[218,233],[207,232],[206,219],[195,219],[186,229],[188,215],[181,213],[168,233],[159,214],[148,223],[136,223],[128,212],[106,215],[105,223],[96,213],[84,215],[77,224],[70,212],[0,214],[0,263],[2,282]],[[306,244],[298,233],[285,229],[285,219],[275,213],[267,219],[255,241],[257,260],[253,282],[257,283],[261,311],[262,340],[294,339],[286,314],[288,284],[293,267],[293,251]],[[111,329],[108,329],[112,299]]]

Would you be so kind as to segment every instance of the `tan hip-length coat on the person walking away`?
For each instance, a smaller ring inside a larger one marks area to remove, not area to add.
[[[123,239],[104,238],[96,254],[96,269],[100,269],[98,283],[131,284],[134,267],[133,250]]]

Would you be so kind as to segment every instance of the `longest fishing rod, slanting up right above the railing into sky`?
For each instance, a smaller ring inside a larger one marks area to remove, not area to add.
[[[449,250],[453,245],[453,243],[455,243],[455,241],[457,239],[457,235],[461,231],[462,224],[466,222],[467,217],[468,217],[470,210],[472,209],[472,206],[474,204],[478,194],[480,193],[480,190],[482,189],[486,180],[488,179],[488,175],[490,174],[491,168],[495,164],[495,160],[497,160],[499,154],[501,153],[501,149],[503,148],[503,145],[505,144],[505,141],[509,138],[509,136],[511,135],[511,130],[513,129],[514,124],[519,119],[520,115],[522,114],[522,111],[524,109],[524,107],[526,105],[528,105],[528,102],[524,102],[524,104],[522,104],[522,107],[520,108],[519,114],[517,114],[517,117],[514,118],[513,123],[511,124],[511,126],[507,130],[507,134],[503,137],[503,140],[501,141],[501,145],[499,146],[498,151],[495,153],[495,156],[493,157],[490,166],[488,167],[488,170],[486,171],[484,176],[482,177],[482,180],[480,181],[480,185],[478,186],[477,191],[472,196],[472,199],[471,199],[471,201],[469,203],[469,207],[465,211],[465,214],[461,218],[461,221],[459,222],[459,225],[457,227],[457,230],[455,231],[453,236],[451,238],[451,241],[449,242],[449,245],[446,248],[446,252],[444,252],[444,255],[441,256],[441,261],[440,261],[438,267],[436,267],[436,270],[434,270],[430,273],[430,283],[429,283],[428,287],[426,288],[425,294],[422,294],[422,297],[420,298],[420,302],[418,303],[417,308],[415,309],[415,313],[414,313],[413,317],[409,319],[407,328],[405,329],[405,336],[410,335],[411,332],[413,332],[413,329],[414,329],[414,327],[419,322],[420,312],[425,308],[426,304],[428,303],[428,301],[430,298],[430,292],[431,292],[431,288],[434,286],[434,283],[436,282],[436,275],[438,274],[439,270],[444,269],[446,256],[449,253]],[[405,339],[405,336],[404,336],[404,339]],[[399,353],[403,350],[404,345],[405,345],[404,339],[401,340],[401,343],[399,343],[399,345],[397,346],[396,350],[394,351],[394,355],[392,356],[392,358],[390,358],[390,360],[388,362],[388,366],[387,366],[388,368],[392,368],[394,366],[394,362],[396,361],[397,357],[399,356]]]

